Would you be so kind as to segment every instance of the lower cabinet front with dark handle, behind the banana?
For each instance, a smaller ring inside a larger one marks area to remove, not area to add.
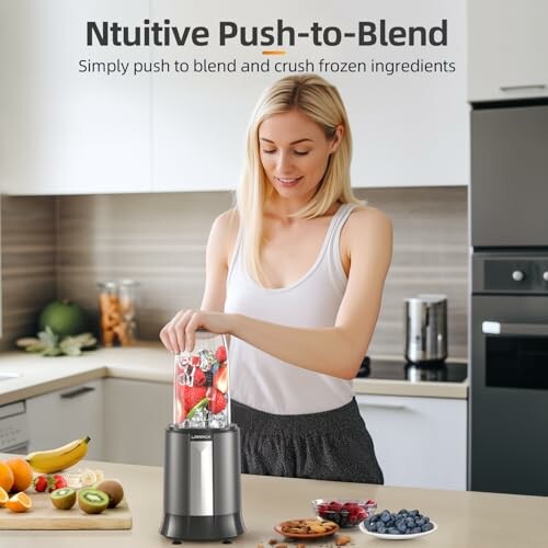
[[[87,458],[103,459],[103,398],[102,379],[28,398],[30,450],[90,436]]]

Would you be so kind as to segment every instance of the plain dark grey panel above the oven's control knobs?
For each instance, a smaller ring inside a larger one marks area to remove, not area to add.
[[[473,110],[471,244],[548,242],[547,104]]]

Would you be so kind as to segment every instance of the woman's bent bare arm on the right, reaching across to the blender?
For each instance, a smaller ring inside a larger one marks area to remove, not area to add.
[[[392,227],[385,214],[367,207],[351,215],[346,233],[351,266],[333,328],[302,329],[242,315],[187,310],[174,326],[178,349],[192,349],[194,331],[202,327],[216,333],[230,333],[298,367],[354,378],[369,346],[380,310],[391,260]]]

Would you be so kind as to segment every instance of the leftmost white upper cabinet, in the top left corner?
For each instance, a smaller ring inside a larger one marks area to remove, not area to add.
[[[150,190],[150,76],[81,71],[150,55],[88,46],[88,21],[135,25],[148,13],[148,0],[3,2],[2,192]]]

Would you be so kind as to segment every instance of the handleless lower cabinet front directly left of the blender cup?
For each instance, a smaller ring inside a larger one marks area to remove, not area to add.
[[[164,431],[173,420],[168,383],[106,378],[105,460],[163,465]]]

